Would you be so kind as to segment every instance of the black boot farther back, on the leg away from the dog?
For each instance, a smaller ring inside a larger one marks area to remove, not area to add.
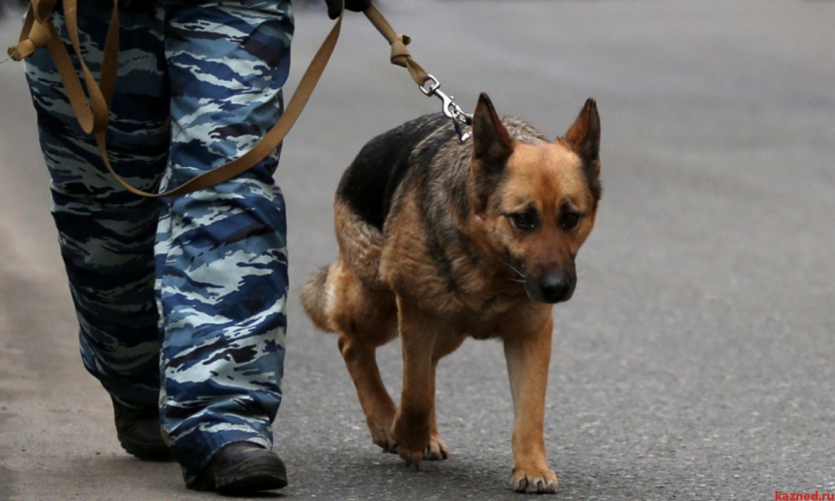
[[[113,399],[116,436],[127,453],[145,461],[173,459],[159,428],[156,407],[127,407]]]

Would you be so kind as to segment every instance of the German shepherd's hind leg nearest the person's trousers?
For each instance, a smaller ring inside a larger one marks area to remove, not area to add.
[[[350,271],[339,268],[335,279],[334,323],[339,351],[357,387],[372,440],[386,452],[396,452],[392,422],[397,406],[388,394],[377,367],[377,348],[397,336],[397,310],[390,291],[371,289]]]

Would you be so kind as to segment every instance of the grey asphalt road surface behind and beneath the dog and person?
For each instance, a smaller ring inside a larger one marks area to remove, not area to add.
[[[559,499],[775,499],[835,493],[835,3],[412,1],[383,7],[472,110],[563,134],[600,107],[604,200],[555,310],[546,441]],[[17,21],[0,33],[14,38]],[[296,78],[326,33],[300,10]],[[0,498],[197,499],[173,464],[119,448],[81,367],[19,65],[0,65]],[[291,328],[280,497],[519,499],[501,347],[466,342],[438,374],[443,463],[371,443],[337,352],[296,299],[335,256],[331,196],[373,135],[438,110],[347,22],[287,140]],[[398,347],[382,371],[399,392]]]

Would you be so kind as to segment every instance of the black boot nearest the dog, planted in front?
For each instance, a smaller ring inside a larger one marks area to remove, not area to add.
[[[223,494],[248,494],[283,488],[287,470],[278,454],[251,442],[228,443],[188,487]]]

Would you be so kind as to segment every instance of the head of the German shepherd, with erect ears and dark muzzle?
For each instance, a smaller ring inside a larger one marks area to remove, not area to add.
[[[568,301],[574,293],[574,257],[595,225],[602,193],[599,150],[593,99],[563,138],[546,144],[514,139],[487,95],[478,99],[468,180],[473,220],[534,301]]]

